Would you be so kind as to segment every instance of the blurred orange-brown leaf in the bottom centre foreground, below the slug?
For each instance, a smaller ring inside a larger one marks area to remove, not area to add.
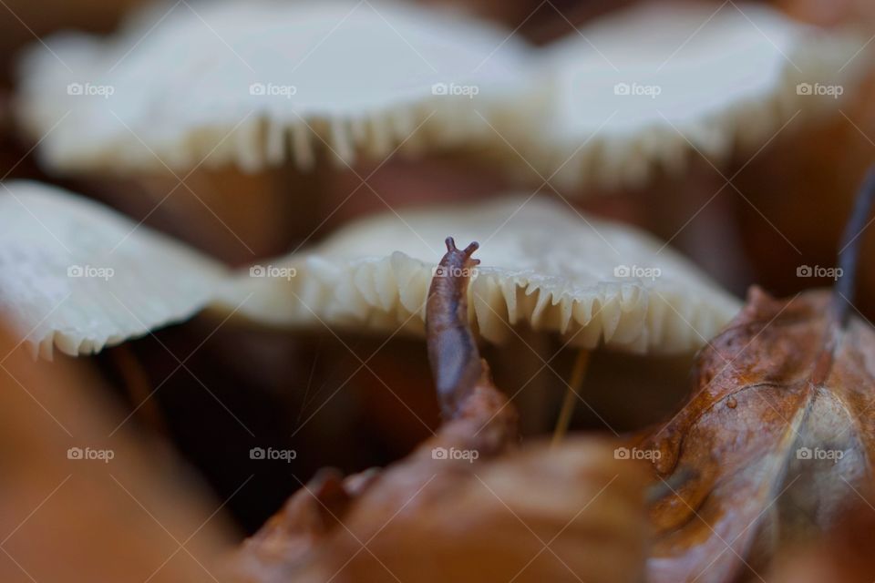
[[[613,458],[612,445],[586,439],[533,445],[455,476],[433,473],[418,494],[366,496],[308,575],[637,583],[647,535],[642,477]],[[376,498],[385,506],[368,508]]]

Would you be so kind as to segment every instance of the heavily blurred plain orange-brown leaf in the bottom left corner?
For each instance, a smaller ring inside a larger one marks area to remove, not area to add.
[[[92,363],[15,342],[0,327],[0,581],[213,583],[221,501],[122,421]]]

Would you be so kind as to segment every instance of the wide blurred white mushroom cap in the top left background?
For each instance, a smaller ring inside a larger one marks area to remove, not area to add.
[[[108,39],[46,46],[22,59],[17,103],[67,170],[306,167],[323,140],[347,163],[458,146],[491,134],[529,56],[470,18],[353,0],[162,5]]]

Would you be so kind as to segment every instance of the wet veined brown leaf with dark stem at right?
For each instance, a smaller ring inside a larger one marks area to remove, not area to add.
[[[652,509],[653,581],[759,580],[868,489],[875,332],[856,318],[839,329],[831,301],[752,289],[699,355],[692,399],[643,440],[659,477],[694,470]]]

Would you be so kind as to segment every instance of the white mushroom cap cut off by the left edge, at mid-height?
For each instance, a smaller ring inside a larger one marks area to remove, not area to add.
[[[113,210],[36,182],[0,185],[0,319],[33,353],[98,353],[180,322],[225,271]]]

